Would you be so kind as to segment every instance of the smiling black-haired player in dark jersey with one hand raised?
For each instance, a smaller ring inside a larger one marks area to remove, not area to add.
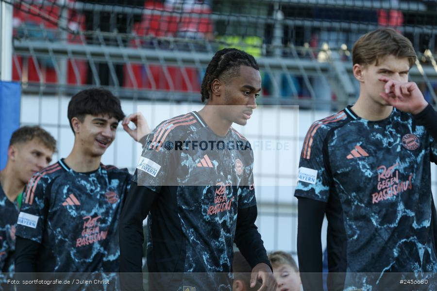
[[[17,222],[17,272],[118,272],[118,218],[132,176],[103,165],[101,156],[120,120],[136,141],[150,130],[141,113],[125,117],[119,99],[101,88],[73,96],[68,120],[71,153],[27,185]]]

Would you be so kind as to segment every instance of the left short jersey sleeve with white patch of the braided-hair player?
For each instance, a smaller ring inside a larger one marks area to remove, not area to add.
[[[169,132],[165,129],[165,124],[162,124],[147,136],[132,178],[138,186],[160,192],[161,187],[168,183],[168,173],[171,173],[171,159],[174,153],[174,145],[170,141],[172,133],[173,131]]]

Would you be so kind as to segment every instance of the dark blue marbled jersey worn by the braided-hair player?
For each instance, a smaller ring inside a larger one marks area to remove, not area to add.
[[[152,131],[134,175],[158,193],[148,216],[149,272],[231,272],[237,210],[256,205],[252,165],[244,137],[233,128],[216,135],[196,112]],[[200,290],[208,288],[219,289]]]

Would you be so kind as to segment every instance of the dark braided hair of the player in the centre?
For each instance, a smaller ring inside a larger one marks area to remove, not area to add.
[[[213,56],[203,77],[201,94],[202,102],[210,97],[211,83],[215,79],[226,82],[240,75],[240,66],[245,65],[259,70],[255,58],[239,49],[221,49]]]

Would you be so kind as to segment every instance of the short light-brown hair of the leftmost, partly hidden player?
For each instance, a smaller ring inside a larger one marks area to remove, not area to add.
[[[23,126],[12,133],[9,146],[17,144],[24,144],[34,139],[38,139],[44,146],[49,148],[52,152],[56,152],[56,140],[45,129],[35,126]]]

